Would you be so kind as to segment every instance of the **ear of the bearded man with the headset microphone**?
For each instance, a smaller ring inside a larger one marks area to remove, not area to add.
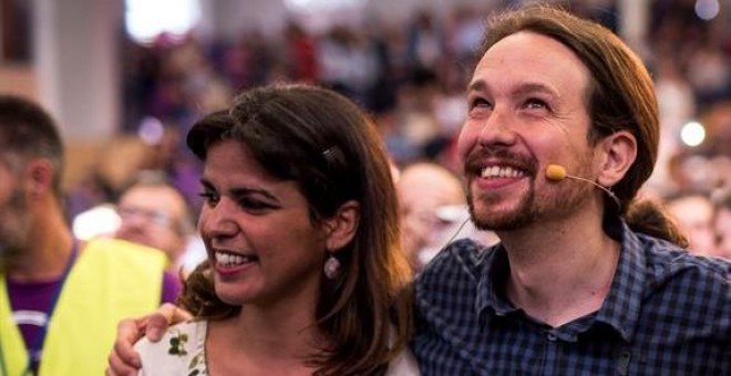
[[[597,182],[612,187],[625,177],[625,174],[637,158],[637,139],[628,130],[611,134],[599,142],[600,166]]]

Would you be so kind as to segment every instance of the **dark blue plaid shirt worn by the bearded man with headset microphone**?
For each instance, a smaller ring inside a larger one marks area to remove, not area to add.
[[[450,244],[416,279],[424,375],[731,375],[731,263],[635,233],[601,307],[559,327],[505,297],[505,249]]]

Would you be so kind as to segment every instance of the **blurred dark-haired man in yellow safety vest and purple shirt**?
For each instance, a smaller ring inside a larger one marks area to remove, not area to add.
[[[0,376],[102,375],[122,317],[174,300],[165,254],[73,238],[52,118],[0,95]]]

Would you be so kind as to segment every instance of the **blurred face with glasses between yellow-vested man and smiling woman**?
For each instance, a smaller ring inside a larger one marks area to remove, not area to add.
[[[184,251],[186,202],[174,188],[136,185],[120,198],[121,224],[115,237],[164,251],[171,261]]]

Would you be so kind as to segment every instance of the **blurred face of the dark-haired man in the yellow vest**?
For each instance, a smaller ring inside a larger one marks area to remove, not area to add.
[[[16,259],[24,249],[30,231],[30,213],[21,176],[0,156],[0,265]]]

